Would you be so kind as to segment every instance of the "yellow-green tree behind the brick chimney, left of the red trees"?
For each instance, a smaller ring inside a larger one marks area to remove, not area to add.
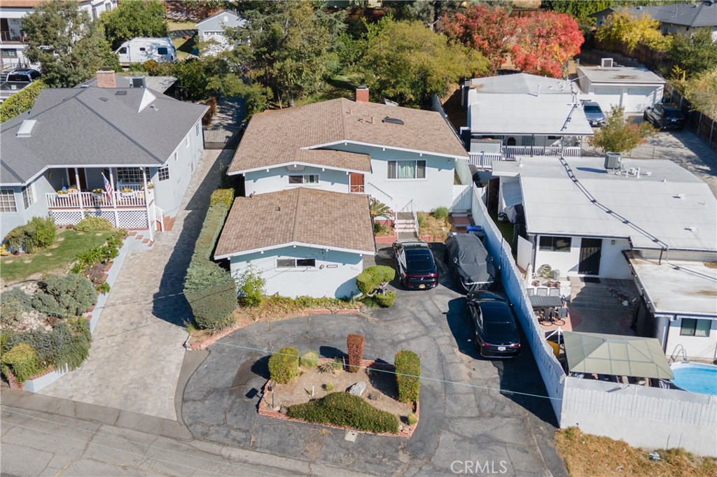
[[[417,21],[390,21],[369,38],[359,66],[372,94],[415,107],[444,95],[451,83],[487,71],[488,62]]]

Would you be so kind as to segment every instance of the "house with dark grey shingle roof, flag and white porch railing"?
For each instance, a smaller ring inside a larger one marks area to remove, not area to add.
[[[35,216],[58,225],[102,216],[150,231],[176,216],[204,150],[206,106],[116,86],[105,71],[97,87],[44,89],[1,125],[2,236]]]

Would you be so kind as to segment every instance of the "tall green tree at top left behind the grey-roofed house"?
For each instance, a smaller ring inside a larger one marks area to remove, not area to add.
[[[52,0],[22,19],[27,33],[25,55],[42,67],[49,87],[73,87],[105,65],[117,65],[97,22],[77,1]]]

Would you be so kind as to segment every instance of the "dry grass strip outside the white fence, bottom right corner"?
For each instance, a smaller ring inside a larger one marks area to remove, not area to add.
[[[558,430],[556,446],[571,476],[673,476],[707,477],[717,473],[717,459],[693,456],[682,449],[633,448],[623,440],[583,433],[578,428]]]

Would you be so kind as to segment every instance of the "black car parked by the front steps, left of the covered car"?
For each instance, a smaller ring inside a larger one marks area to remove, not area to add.
[[[393,249],[402,286],[407,289],[435,288],[438,284],[438,269],[426,242],[397,241]]]

